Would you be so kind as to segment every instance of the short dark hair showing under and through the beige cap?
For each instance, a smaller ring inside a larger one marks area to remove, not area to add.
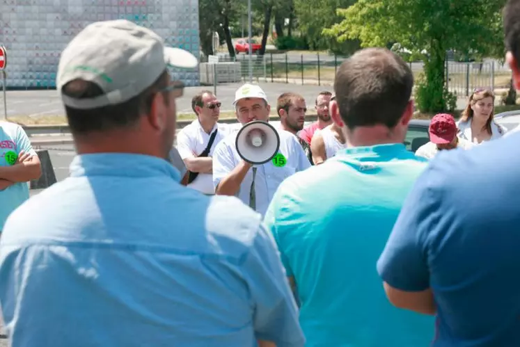
[[[65,113],[72,134],[88,134],[92,131],[110,131],[113,129],[133,127],[143,114],[150,113],[155,94],[168,86],[169,74],[166,70],[139,95],[121,104],[102,106],[99,108],[78,109],[65,106]],[[97,97],[104,90],[96,83],[76,79],[62,88],[64,95],[77,99]],[[164,94],[168,102],[167,92]]]

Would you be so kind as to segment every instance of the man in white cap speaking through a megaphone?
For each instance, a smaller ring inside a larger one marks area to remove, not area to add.
[[[244,84],[235,93],[237,118],[242,125],[254,120],[269,121],[271,106],[260,86]],[[237,195],[249,207],[264,215],[278,186],[295,172],[310,168],[306,154],[294,134],[278,130],[278,153],[267,163],[252,165],[242,159],[233,131],[216,145],[213,153],[213,184],[220,195]],[[282,160],[278,160],[281,158]]]

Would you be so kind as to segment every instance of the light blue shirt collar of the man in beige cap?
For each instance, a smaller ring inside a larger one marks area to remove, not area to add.
[[[180,181],[180,172],[166,159],[133,153],[80,154],[70,163],[70,176],[169,176]]]

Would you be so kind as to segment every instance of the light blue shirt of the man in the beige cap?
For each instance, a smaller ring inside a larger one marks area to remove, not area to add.
[[[260,215],[179,180],[164,159],[85,154],[13,212],[0,241],[12,346],[304,346]]]

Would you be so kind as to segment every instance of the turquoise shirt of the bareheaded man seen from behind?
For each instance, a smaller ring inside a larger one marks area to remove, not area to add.
[[[396,309],[375,271],[427,165],[402,144],[340,150],[286,179],[265,216],[301,301],[307,346],[428,346],[434,318]]]

